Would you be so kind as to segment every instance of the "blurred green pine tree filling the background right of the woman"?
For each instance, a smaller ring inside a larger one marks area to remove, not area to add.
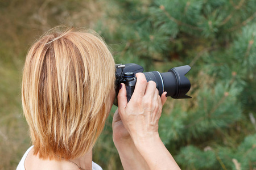
[[[256,1],[110,3],[119,11],[108,16],[114,28],[102,22],[97,29],[117,44],[118,63],[162,72],[192,67],[193,98],[169,99],[159,122],[181,169],[255,169]]]

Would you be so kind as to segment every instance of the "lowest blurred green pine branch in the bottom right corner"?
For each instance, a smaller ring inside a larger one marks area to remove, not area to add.
[[[205,147],[200,150],[195,146],[183,147],[176,161],[186,168],[195,169],[250,169],[255,167],[256,159],[256,134],[249,135],[238,146],[237,150],[220,147],[213,150]]]

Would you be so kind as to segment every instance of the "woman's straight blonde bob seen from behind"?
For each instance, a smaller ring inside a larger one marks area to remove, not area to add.
[[[49,32],[28,51],[22,106],[34,154],[74,159],[88,152],[112,107],[112,54],[93,32]]]

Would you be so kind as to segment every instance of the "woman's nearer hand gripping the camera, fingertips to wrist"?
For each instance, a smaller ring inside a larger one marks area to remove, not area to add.
[[[167,92],[160,97],[155,82],[147,82],[142,73],[136,76],[137,83],[129,103],[125,84],[122,84],[118,94],[118,112],[133,141],[141,142],[158,136],[158,121]]]

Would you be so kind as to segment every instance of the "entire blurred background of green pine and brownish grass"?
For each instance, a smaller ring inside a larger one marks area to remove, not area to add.
[[[181,169],[256,169],[255,0],[1,0],[0,21],[0,169],[15,169],[31,145],[24,59],[57,25],[94,29],[116,63],[161,72],[190,65],[193,98],[168,99],[159,122],[164,144]],[[115,170],[122,166],[112,116],[93,160]]]

